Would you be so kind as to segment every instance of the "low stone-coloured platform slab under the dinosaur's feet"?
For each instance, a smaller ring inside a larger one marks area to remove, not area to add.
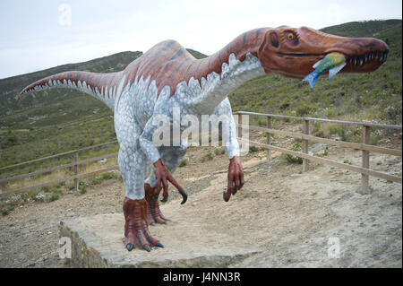
[[[256,253],[250,245],[240,246],[236,238],[197,223],[150,226],[151,235],[165,246],[150,253],[124,248],[123,213],[61,221],[59,236],[72,239],[73,267],[225,267]]]

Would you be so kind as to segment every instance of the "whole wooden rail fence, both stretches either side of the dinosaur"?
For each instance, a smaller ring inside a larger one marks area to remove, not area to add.
[[[369,144],[370,143],[371,128],[376,127],[376,128],[388,128],[388,129],[399,129],[399,130],[401,130],[402,126],[391,126],[391,125],[373,124],[373,123],[365,123],[365,122],[349,122],[349,121],[340,121],[340,120],[329,120],[329,119],[313,118],[313,117],[290,117],[290,116],[282,116],[282,115],[247,112],[247,111],[238,111],[235,114],[237,114],[237,115],[257,116],[257,117],[266,117],[267,118],[266,128],[260,127],[260,126],[244,126],[242,124],[242,117],[238,117],[238,123],[237,123],[236,126],[238,127],[238,135],[239,135],[239,137],[241,137],[240,134],[242,134],[242,129],[243,128],[249,128],[251,130],[262,131],[262,132],[265,132],[266,134],[268,134],[266,143],[258,143],[258,142],[253,142],[253,141],[248,141],[248,143],[249,144],[254,144],[254,145],[259,145],[259,146],[262,146],[263,148],[267,149],[268,150],[267,157],[268,157],[269,160],[270,160],[270,151],[277,151],[277,152],[282,152],[282,153],[286,153],[286,154],[290,154],[290,155],[294,155],[294,156],[298,156],[298,157],[303,158],[303,171],[308,170],[308,162],[309,162],[309,160],[313,160],[313,161],[317,161],[317,162],[327,164],[327,165],[330,165],[330,166],[338,167],[338,168],[341,168],[341,169],[348,169],[348,170],[351,170],[351,171],[361,173],[361,176],[362,176],[362,189],[361,189],[361,192],[363,194],[368,194],[369,193],[369,190],[370,190],[370,188],[369,188],[369,176],[373,176],[373,177],[377,177],[377,178],[383,178],[383,179],[386,179],[386,180],[389,180],[389,181],[392,181],[392,182],[397,182],[397,183],[400,183],[400,184],[402,183],[401,177],[393,176],[393,175],[390,175],[390,174],[387,174],[387,173],[384,173],[384,172],[380,172],[380,171],[376,171],[376,170],[373,170],[373,169],[369,168],[369,166],[370,166],[370,164],[369,164],[369,158],[370,158],[369,157],[369,152],[378,152],[378,153],[382,153],[382,154],[389,154],[389,155],[393,155],[393,156],[402,157],[401,150],[390,149],[390,148],[385,148],[385,147],[380,147],[380,146],[375,146],[375,145]],[[303,123],[303,133],[296,133],[296,132],[273,129],[271,127],[272,118],[300,120]],[[341,124],[341,125],[362,126],[363,127],[363,142],[362,143],[349,143],[349,142],[336,141],[336,140],[332,140],[332,139],[327,139],[327,138],[322,138],[322,137],[317,137],[317,136],[310,135],[309,134],[309,123],[311,121],[322,122],[322,123]],[[288,150],[288,149],[281,148],[281,147],[274,146],[274,145],[270,144],[270,135],[269,134],[286,135],[286,136],[290,136],[290,137],[293,137],[293,138],[301,139],[302,143],[303,143],[303,152],[296,152],[296,151]],[[238,138],[238,139],[242,142],[241,138]],[[335,160],[329,160],[329,159],[325,159],[325,158],[310,155],[308,153],[309,142],[326,143],[326,144],[335,145],[335,146],[339,146],[339,147],[347,147],[347,148],[352,148],[352,149],[356,149],[356,150],[362,150],[362,166],[361,167],[353,166],[353,165],[349,165],[349,164],[346,164],[346,163],[341,163],[341,162],[338,162],[338,161],[335,161]],[[91,172],[86,172],[86,173],[79,174],[78,166],[80,166],[81,164],[90,163],[90,162],[94,162],[94,161],[99,161],[99,160],[107,159],[107,158],[114,158],[114,157],[117,156],[117,152],[115,152],[115,153],[110,153],[110,154],[106,154],[106,155],[102,155],[102,156],[93,157],[93,158],[86,159],[86,160],[79,160],[79,152],[88,151],[88,150],[93,149],[93,148],[105,146],[105,145],[108,145],[108,144],[114,144],[114,143],[116,143],[116,141],[108,142],[108,143],[102,143],[102,144],[99,144],[99,145],[89,146],[89,147],[85,147],[85,148],[82,148],[82,149],[73,150],[73,151],[70,151],[70,152],[63,152],[63,153],[59,153],[59,154],[52,155],[52,156],[47,156],[47,157],[36,159],[36,160],[29,160],[29,161],[21,162],[21,163],[18,163],[18,164],[2,167],[2,168],[0,168],[0,171],[4,170],[4,169],[11,169],[11,168],[15,168],[15,167],[21,167],[22,165],[26,165],[26,164],[30,164],[30,163],[34,163],[34,162],[39,162],[39,161],[42,161],[42,160],[55,159],[55,158],[60,157],[60,156],[73,154],[73,161],[71,163],[67,163],[67,164],[64,164],[64,165],[60,165],[60,166],[56,166],[56,167],[52,167],[52,168],[48,168],[48,169],[40,169],[40,170],[37,170],[35,172],[22,174],[22,175],[18,175],[18,176],[13,176],[13,177],[10,177],[10,178],[3,178],[3,179],[0,179],[0,185],[2,185],[2,184],[6,185],[8,182],[10,182],[12,180],[17,180],[17,179],[21,179],[21,178],[30,178],[30,177],[35,176],[35,175],[49,173],[49,172],[52,172],[52,171],[55,171],[55,170],[58,170],[58,169],[66,169],[66,168],[72,168],[72,167],[73,167],[74,175],[66,177],[66,178],[60,178],[60,179],[48,181],[46,183],[42,183],[42,184],[39,184],[39,185],[26,186],[26,187],[21,187],[21,188],[18,188],[18,189],[13,189],[13,190],[5,189],[5,190],[2,190],[2,192],[0,193],[0,196],[21,193],[21,192],[28,191],[30,189],[39,188],[39,187],[42,187],[42,186],[50,186],[50,185],[54,185],[54,184],[59,184],[59,183],[62,183],[62,182],[68,181],[68,180],[73,180],[74,181],[74,188],[75,188],[75,190],[78,190],[79,179],[80,178],[86,178],[86,177],[90,177],[90,176],[93,176],[93,175],[96,175],[96,174],[99,174],[99,173],[107,172],[107,171],[110,171],[110,170],[113,170],[113,169],[118,169],[117,165],[113,165],[113,166],[108,166],[107,168],[98,169],[96,171],[91,171]]]

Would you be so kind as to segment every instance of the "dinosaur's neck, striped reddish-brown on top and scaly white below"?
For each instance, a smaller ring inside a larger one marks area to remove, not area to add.
[[[201,86],[192,100],[193,108],[201,114],[210,114],[231,91],[264,74],[257,53],[267,30],[247,31],[214,55],[193,63],[195,68],[186,74],[186,82],[193,91],[198,82]]]

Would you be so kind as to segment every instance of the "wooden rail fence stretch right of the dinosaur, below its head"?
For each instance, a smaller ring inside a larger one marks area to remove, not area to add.
[[[267,118],[266,128],[259,127],[259,126],[244,126],[242,124],[242,117],[238,117],[238,123],[236,126],[238,127],[237,133],[238,133],[239,137],[241,137],[240,134],[242,133],[243,128],[249,128],[251,130],[262,131],[267,134],[266,143],[258,143],[258,142],[253,142],[250,140],[248,141],[248,143],[255,144],[255,145],[258,145],[258,146],[261,146],[261,147],[267,149],[268,150],[267,158],[269,160],[270,160],[270,151],[277,151],[277,152],[282,152],[282,153],[286,153],[289,155],[294,155],[294,156],[303,158],[303,171],[308,170],[308,162],[309,162],[309,160],[313,160],[313,161],[327,164],[327,165],[330,165],[333,167],[338,167],[341,169],[348,169],[351,171],[361,173],[361,184],[362,184],[361,192],[360,192],[361,194],[370,193],[369,176],[373,176],[376,178],[383,178],[383,179],[386,179],[386,180],[389,180],[392,182],[397,182],[400,184],[402,183],[401,177],[393,176],[388,173],[370,169],[370,162],[369,162],[369,159],[370,159],[369,152],[378,152],[378,153],[382,153],[382,154],[388,154],[388,155],[402,157],[401,150],[370,145],[371,128],[387,128],[387,129],[402,130],[402,126],[392,126],[392,125],[374,124],[374,123],[366,123],[366,122],[350,122],[350,121],[341,121],[341,120],[330,120],[330,119],[314,118],[314,117],[291,117],[291,116],[282,116],[282,115],[274,115],[274,114],[262,114],[262,113],[256,113],[256,112],[248,112],[248,111],[238,111],[238,112],[236,112],[236,114]],[[271,128],[272,118],[292,119],[292,120],[302,121],[303,133],[296,133],[296,132],[273,129],[273,128]],[[350,125],[350,126],[362,126],[362,128],[363,128],[362,143],[350,143],[350,142],[344,142],[344,141],[336,141],[333,139],[327,139],[327,138],[310,135],[309,134],[309,123],[311,121],[340,124],[340,125]],[[296,152],[296,151],[291,151],[291,150],[288,150],[285,148],[273,146],[272,144],[270,144],[270,135],[269,134],[286,135],[286,136],[290,136],[293,138],[301,139],[302,143],[303,143],[303,148],[302,148],[303,152]],[[241,138],[238,138],[238,139],[242,141]],[[346,147],[346,148],[361,150],[362,151],[362,166],[361,167],[353,166],[353,165],[349,165],[346,163],[341,163],[339,161],[329,160],[329,159],[310,155],[310,154],[308,154],[309,142],[325,143],[325,144],[339,146],[339,147]]]

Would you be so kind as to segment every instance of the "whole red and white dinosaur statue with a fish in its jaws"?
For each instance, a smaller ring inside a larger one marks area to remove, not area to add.
[[[135,247],[150,251],[151,247],[163,245],[151,237],[149,225],[168,221],[159,210],[161,190],[162,201],[167,201],[169,181],[183,195],[182,204],[187,198],[184,188],[172,176],[184,157],[187,142],[155,146],[153,134],[159,126],[153,124],[153,119],[160,115],[172,119],[173,108],[180,108],[181,116],[217,114],[231,118],[226,142],[227,201],[244,184],[227,94],[262,74],[302,79],[313,72],[315,63],[332,52],[346,58],[341,73],[368,73],[385,62],[389,48],[379,39],[344,38],[287,26],[246,31],[203,59],[194,58],[175,40],[166,40],[150,48],[124,71],[51,75],[30,84],[17,100],[30,91],[64,87],[87,92],[114,110],[118,165],[125,189],[125,247],[129,251]],[[144,181],[150,161],[150,176]]]

